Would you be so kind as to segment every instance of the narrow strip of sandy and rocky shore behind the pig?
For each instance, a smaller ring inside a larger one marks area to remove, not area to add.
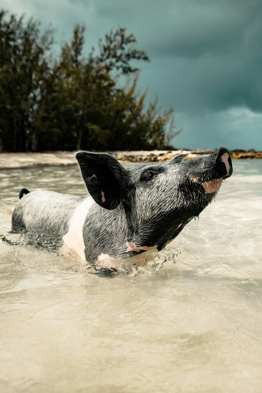
[[[119,161],[126,162],[163,162],[170,160],[176,154],[187,150],[153,150],[153,151],[108,151]],[[191,150],[187,158],[203,154],[213,154],[210,150]],[[231,150],[232,158],[262,158],[262,152]],[[35,167],[38,165],[76,165],[75,152],[55,151],[43,153],[0,153],[0,169]]]

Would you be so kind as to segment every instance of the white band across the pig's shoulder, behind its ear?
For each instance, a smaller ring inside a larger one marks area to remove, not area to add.
[[[62,238],[64,244],[77,252],[83,261],[86,260],[84,255],[83,225],[92,203],[93,199],[87,197],[79,204],[70,220],[68,233]]]

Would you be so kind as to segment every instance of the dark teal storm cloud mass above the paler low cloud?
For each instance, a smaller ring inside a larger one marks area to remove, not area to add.
[[[246,106],[262,111],[261,0],[94,4],[97,16],[135,33],[139,48],[152,59],[150,66],[143,66],[141,83],[150,86],[145,69],[150,74],[150,67],[158,68],[156,91],[169,86],[166,95],[176,110]]]

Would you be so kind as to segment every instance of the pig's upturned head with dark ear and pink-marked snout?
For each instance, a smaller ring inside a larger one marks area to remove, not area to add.
[[[184,160],[179,154],[165,163],[124,167],[106,153],[77,152],[90,195],[105,209],[125,209],[126,256],[157,246],[161,250],[197,217],[231,176],[227,149]]]

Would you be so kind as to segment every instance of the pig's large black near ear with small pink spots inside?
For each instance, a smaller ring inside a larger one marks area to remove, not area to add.
[[[88,192],[103,208],[115,209],[124,198],[128,170],[107,153],[79,151],[76,154]]]

